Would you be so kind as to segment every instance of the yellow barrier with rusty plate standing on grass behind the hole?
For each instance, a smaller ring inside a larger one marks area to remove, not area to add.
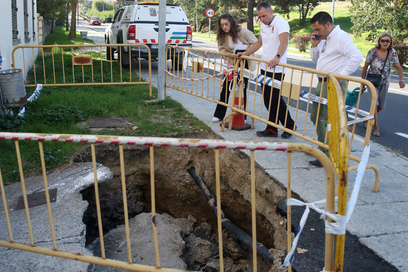
[[[116,68],[113,62],[115,49],[112,46],[118,48],[119,68]],[[106,54],[102,54],[105,47]],[[125,47],[128,53],[125,52]],[[34,48],[40,48],[37,58],[34,56]],[[16,50],[22,51],[26,87],[36,86],[38,83],[43,86],[144,84],[149,85],[151,95],[151,53],[149,47],[144,44],[17,46],[11,53],[13,68],[18,68],[14,56]],[[28,80],[24,58],[26,54],[32,54],[33,58],[33,74]],[[103,60],[104,57],[106,60]],[[142,63],[141,57],[147,58],[148,81],[142,80],[142,66],[145,68],[146,64]],[[129,64],[124,64],[125,61]],[[136,72],[137,77],[132,72]]]

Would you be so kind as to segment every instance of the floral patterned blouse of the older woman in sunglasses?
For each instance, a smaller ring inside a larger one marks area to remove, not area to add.
[[[398,63],[399,59],[397,56],[397,52],[395,49],[391,49],[390,54],[388,54],[387,60],[381,58],[378,54],[377,48],[371,48],[366,57],[366,61],[370,63],[370,68],[368,68],[368,72],[371,74],[381,74],[381,84],[390,84],[390,70],[391,66],[394,63]],[[386,65],[384,66],[384,72],[381,73],[382,67],[384,65],[384,61],[386,61]]]

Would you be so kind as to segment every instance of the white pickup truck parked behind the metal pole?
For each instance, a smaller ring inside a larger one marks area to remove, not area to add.
[[[159,4],[150,2],[135,2],[135,4],[121,7],[114,18],[106,18],[105,22],[110,25],[105,30],[105,44],[109,43],[142,43],[151,51],[151,59],[157,60],[159,48]],[[193,34],[186,13],[175,4],[166,4],[166,45],[178,45],[192,47]],[[120,47],[118,61],[122,67],[129,67],[129,48],[132,58],[148,58],[145,47]],[[176,58],[182,56],[182,52],[173,51]],[[106,59],[114,58],[118,52],[117,47],[106,47]],[[122,57],[120,57],[120,55]],[[173,61],[173,56],[167,52],[167,59]],[[176,65],[182,69],[183,60],[176,59]],[[179,67],[179,69],[180,69]]]

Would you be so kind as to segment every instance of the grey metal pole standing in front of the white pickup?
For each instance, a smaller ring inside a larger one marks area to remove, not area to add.
[[[166,0],[159,0],[159,49],[157,65],[157,99],[164,100],[164,69],[166,67]]]

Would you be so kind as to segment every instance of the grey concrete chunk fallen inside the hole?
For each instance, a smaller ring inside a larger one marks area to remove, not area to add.
[[[142,213],[129,219],[129,233],[132,252],[132,262],[141,265],[156,265],[156,255],[153,241],[152,214]],[[173,218],[168,214],[156,214],[157,243],[160,250],[160,266],[162,268],[187,268],[180,258],[185,250],[182,239],[193,230],[193,223],[185,218]],[[106,258],[128,261],[126,230],[124,225],[111,229],[104,235]],[[96,256],[101,256],[100,240],[97,238],[88,246]],[[165,249],[165,250],[164,250]],[[93,266],[93,272],[126,271],[116,268]]]

